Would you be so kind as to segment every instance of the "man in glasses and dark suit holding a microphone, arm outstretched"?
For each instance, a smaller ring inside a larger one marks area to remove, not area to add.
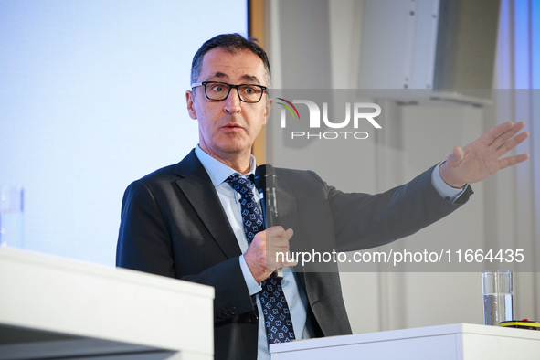
[[[304,272],[267,256],[267,249],[288,252],[291,238],[293,252],[312,242],[329,251],[386,244],[461,206],[471,195],[468,183],[528,156],[500,159],[528,135],[516,135],[523,122],[506,122],[455,147],[407,185],[375,196],[344,194],[312,172],[278,169],[281,226],[250,238],[238,204],[243,197],[229,178],[238,174],[250,184],[256,166],[250,151],[270,111],[269,86],[270,64],[257,43],[233,34],[208,40],[186,91],[198,146],[180,163],[133,182],[122,202],[117,265],[213,286],[217,359],[270,358],[269,320],[258,295],[280,268],[292,338],[351,334],[336,264]]]

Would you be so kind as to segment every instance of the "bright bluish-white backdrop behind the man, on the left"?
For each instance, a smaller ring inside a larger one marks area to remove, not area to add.
[[[191,59],[247,33],[246,2],[0,0],[0,24],[0,184],[25,187],[25,248],[114,265],[125,187],[198,142]]]

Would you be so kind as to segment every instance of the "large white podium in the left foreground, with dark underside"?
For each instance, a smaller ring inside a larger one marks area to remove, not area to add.
[[[214,289],[0,248],[0,359],[214,358]]]

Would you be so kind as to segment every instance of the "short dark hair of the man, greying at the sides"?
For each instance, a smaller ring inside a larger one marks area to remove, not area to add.
[[[221,34],[212,37],[206,41],[196,52],[191,63],[191,83],[197,82],[203,66],[205,54],[213,48],[223,48],[231,54],[238,54],[242,50],[249,50],[257,55],[264,64],[266,71],[266,81],[270,88],[270,62],[266,51],[259,46],[259,40],[256,37],[243,37],[240,34]]]

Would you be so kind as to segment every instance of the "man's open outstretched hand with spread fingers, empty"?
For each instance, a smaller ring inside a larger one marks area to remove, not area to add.
[[[450,186],[462,187],[524,162],[529,158],[529,154],[501,158],[529,137],[529,132],[517,134],[524,127],[524,122],[504,122],[463,148],[454,146],[452,154],[439,167],[440,177]]]

